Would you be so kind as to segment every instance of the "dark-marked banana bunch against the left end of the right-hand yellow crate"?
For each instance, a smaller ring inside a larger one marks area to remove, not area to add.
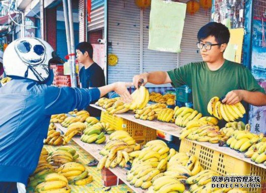
[[[185,152],[177,152],[167,163],[167,171],[164,175],[172,176],[185,183],[188,177],[194,176],[203,170],[195,155]]]

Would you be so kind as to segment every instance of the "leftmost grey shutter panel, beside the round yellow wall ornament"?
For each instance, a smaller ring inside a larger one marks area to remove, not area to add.
[[[108,1],[108,41],[119,58],[108,66],[108,83],[132,81],[140,72],[140,9],[134,1]]]

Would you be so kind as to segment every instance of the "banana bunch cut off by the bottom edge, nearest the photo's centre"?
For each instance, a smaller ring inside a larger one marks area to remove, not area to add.
[[[159,174],[160,175],[160,174]],[[165,193],[165,192],[184,192],[185,185],[182,184],[177,178],[172,176],[155,176],[152,180],[152,186],[149,187],[147,193]]]

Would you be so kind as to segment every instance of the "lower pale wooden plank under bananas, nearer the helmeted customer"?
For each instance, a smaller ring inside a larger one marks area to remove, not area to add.
[[[61,124],[55,123],[55,126],[57,129],[65,133],[67,131],[67,128],[62,127]],[[108,139],[109,135],[106,135],[106,139]],[[74,136],[72,140],[79,145],[84,151],[92,155],[95,159],[98,161],[102,158],[102,156],[99,154],[99,151],[103,149],[104,144],[95,144],[95,143],[84,143],[80,140],[80,137]],[[126,181],[126,170],[125,168],[115,167],[115,168],[109,168],[113,174],[115,174],[119,179],[121,179],[129,188],[131,188],[136,193],[145,193],[147,190],[144,190],[140,187],[136,188],[133,185],[130,185],[128,181]]]

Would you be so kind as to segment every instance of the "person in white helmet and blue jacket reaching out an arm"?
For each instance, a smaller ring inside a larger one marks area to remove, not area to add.
[[[92,89],[49,86],[50,63],[63,60],[41,39],[18,39],[5,50],[4,70],[12,80],[0,88],[0,192],[26,192],[51,115],[83,109],[112,90],[131,100],[126,88],[131,83]]]

